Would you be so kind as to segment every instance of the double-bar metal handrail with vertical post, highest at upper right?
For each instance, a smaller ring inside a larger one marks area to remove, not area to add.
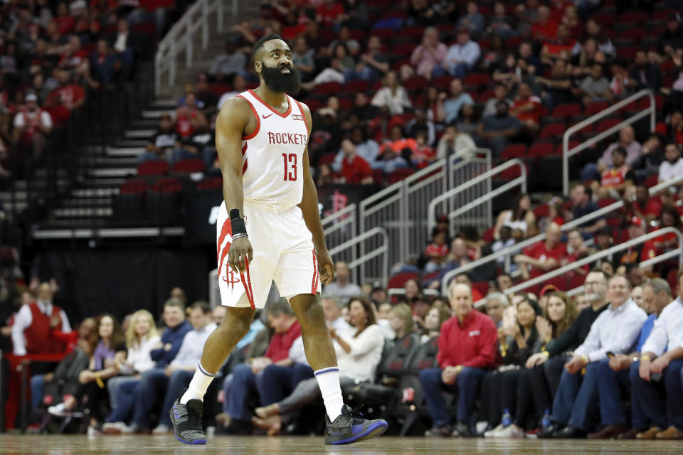
[[[604,117],[607,117],[608,115],[618,111],[622,107],[630,105],[632,102],[636,100],[640,100],[640,98],[642,97],[650,98],[650,107],[647,107],[647,109],[645,109],[644,111],[638,112],[637,114],[628,117],[628,119],[623,120],[623,122],[619,122],[610,129],[607,129],[604,132],[596,134],[594,137],[591,137],[591,139],[583,141],[576,147],[569,149],[569,137],[571,137],[572,134],[580,131],[581,129],[587,127],[590,124],[597,122],[600,119],[603,119]],[[647,115],[650,115],[650,132],[655,131],[655,109],[655,95],[654,93],[652,93],[652,90],[640,90],[640,92],[637,92],[634,95],[631,95],[630,97],[621,100],[617,104],[610,106],[607,109],[598,112],[597,114],[591,115],[591,117],[588,117],[582,122],[578,122],[576,125],[573,125],[573,127],[569,127],[566,130],[566,132],[564,132],[564,136],[562,137],[562,192],[564,196],[569,195],[569,159],[571,158],[571,156],[574,156],[578,154],[578,152],[587,149],[593,144],[596,144],[598,141],[605,139],[605,137],[609,137],[615,132],[618,132],[626,125],[630,125],[642,119],[643,117],[647,117]]]

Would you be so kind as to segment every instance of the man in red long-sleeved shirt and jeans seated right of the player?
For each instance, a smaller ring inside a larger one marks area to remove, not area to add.
[[[428,437],[467,437],[470,432],[470,411],[480,382],[495,366],[498,340],[493,320],[472,309],[472,291],[465,284],[453,284],[449,290],[454,316],[441,326],[439,368],[420,371],[420,384],[432,417],[433,428]],[[441,390],[457,395],[455,432]]]

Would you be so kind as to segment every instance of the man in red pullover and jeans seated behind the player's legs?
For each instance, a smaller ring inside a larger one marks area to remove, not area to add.
[[[226,431],[230,434],[252,432],[247,400],[256,389],[256,376],[268,365],[288,365],[292,343],[301,336],[301,326],[287,301],[280,300],[271,305],[268,319],[270,327],[275,329],[275,334],[270,338],[265,355],[252,359],[250,363],[237,365],[232,373],[233,382],[229,396],[226,396],[229,403],[228,414],[231,417],[231,424]]]

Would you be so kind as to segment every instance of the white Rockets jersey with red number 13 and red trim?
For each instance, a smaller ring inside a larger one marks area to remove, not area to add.
[[[297,205],[301,202],[306,117],[300,102],[287,96],[290,107],[280,113],[252,90],[240,93],[256,117],[256,129],[242,138],[244,200]]]

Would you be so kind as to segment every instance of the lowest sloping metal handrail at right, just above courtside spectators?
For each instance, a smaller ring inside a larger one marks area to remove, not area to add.
[[[523,291],[524,289],[528,289],[531,286],[535,286],[536,284],[541,284],[543,282],[546,282],[546,280],[558,277],[562,274],[565,274],[566,272],[571,272],[574,269],[578,269],[579,267],[583,267],[586,264],[591,264],[595,262],[598,259],[602,259],[603,257],[608,257],[610,255],[613,255],[615,252],[620,252],[621,250],[627,250],[628,248],[638,245],[642,242],[646,242],[647,240],[652,240],[653,238],[660,237],[665,234],[673,233],[678,237],[678,248],[676,250],[673,250],[671,252],[664,253],[660,256],[662,257],[678,257],[678,263],[683,264],[683,235],[681,234],[681,231],[677,230],[677,228],[662,228],[659,230],[652,231],[650,233],[647,233],[645,235],[641,235],[640,237],[636,237],[635,239],[628,240],[627,242],[620,243],[619,245],[615,245],[613,247],[608,248],[607,250],[603,250],[600,252],[597,252],[593,255],[590,255],[588,257],[585,257],[583,259],[579,259],[578,261],[572,262],[571,264],[566,264],[563,267],[559,267],[558,269],[551,270],[550,272],[547,272],[545,274],[542,274],[539,277],[528,279],[525,282],[521,282],[519,284],[516,284],[513,287],[510,287],[508,289],[505,289],[506,294],[514,294],[517,291]],[[669,253],[673,253],[673,255],[669,255]],[[652,258],[654,259],[654,258]],[[641,267],[643,264],[651,265],[653,264],[652,259],[647,259],[646,261],[643,261],[640,263]],[[661,259],[665,260],[665,259]],[[475,302],[475,306],[480,304],[481,302],[485,302],[486,299],[481,299]]]

